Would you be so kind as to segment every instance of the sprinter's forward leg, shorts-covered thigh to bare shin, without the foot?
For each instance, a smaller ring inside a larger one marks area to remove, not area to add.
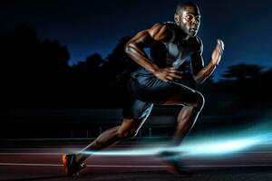
[[[178,115],[178,126],[173,138],[173,143],[179,145],[198,118],[204,105],[204,97],[199,91],[178,82],[160,81],[155,77],[149,77],[146,81],[145,86],[136,86],[139,89],[135,89],[141,100],[155,104],[183,106]]]

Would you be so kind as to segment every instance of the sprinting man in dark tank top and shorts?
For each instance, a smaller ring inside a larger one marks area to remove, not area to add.
[[[224,44],[218,40],[211,60],[204,66],[201,55],[203,45],[197,36],[199,7],[190,2],[180,3],[174,21],[155,24],[151,29],[137,33],[126,44],[125,51],[141,65],[141,69],[131,73],[128,83],[131,96],[124,106],[121,126],[106,130],[79,153],[63,155],[67,175],[73,176],[85,167],[83,162],[90,157],[85,151],[98,151],[123,138],[134,137],[149,117],[153,104],[182,107],[173,137],[174,145],[179,146],[193,127],[203,108],[204,98],[199,91],[180,84],[180,65],[189,59],[194,80],[202,83],[219,64]],[[144,52],[144,48],[150,48],[150,56]]]

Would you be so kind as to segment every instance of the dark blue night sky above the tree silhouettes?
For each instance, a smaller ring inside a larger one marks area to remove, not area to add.
[[[179,0],[27,1],[0,3],[0,28],[24,23],[41,39],[58,39],[71,53],[70,63],[84,61],[99,52],[105,57],[122,36],[133,35],[158,22],[172,21]],[[239,62],[272,66],[272,1],[195,1],[201,12],[199,36],[203,57],[209,61],[217,38],[225,54],[215,71],[217,77],[228,65]]]

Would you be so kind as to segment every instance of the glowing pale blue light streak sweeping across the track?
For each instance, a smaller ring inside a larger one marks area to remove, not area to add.
[[[272,140],[272,133],[243,136],[240,138],[205,138],[185,141],[180,147],[141,148],[118,151],[84,152],[97,156],[151,156],[160,154],[162,151],[177,153],[179,157],[206,157],[226,155],[243,149],[253,148],[257,145],[266,144]],[[208,140],[207,140],[208,139]]]

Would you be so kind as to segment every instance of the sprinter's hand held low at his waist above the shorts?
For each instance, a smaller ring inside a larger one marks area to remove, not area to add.
[[[160,81],[174,81],[174,79],[181,79],[183,71],[178,71],[176,68],[158,68],[153,74]]]

